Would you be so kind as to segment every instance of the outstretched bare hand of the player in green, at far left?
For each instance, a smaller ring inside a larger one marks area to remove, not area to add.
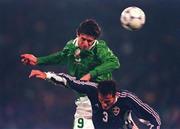
[[[32,54],[22,54],[21,55],[21,62],[23,64],[28,65],[36,65],[37,64],[37,57]]]

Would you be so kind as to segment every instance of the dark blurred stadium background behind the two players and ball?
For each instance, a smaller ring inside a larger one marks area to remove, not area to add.
[[[146,14],[139,31],[119,17],[128,6]],[[0,129],[71,129],[74,92],[29,79],[31,69],[65,72],[61,66],[24,66],[20,54],[44,56],[75,38],[82,20],[94,18],[101,39],[119,57],[119,89],[136,93],[155,108],[162,129],[180,129],[180,1],[0,0]]]

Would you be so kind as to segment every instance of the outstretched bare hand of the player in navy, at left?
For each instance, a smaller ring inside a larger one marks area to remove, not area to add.
[[[40,78],[40,79],[46,79],[47,75],[46,75],[45,72],[42,72],[40,70],[31,70],[29,78],[31,78],[31,77],[36,77],[36,78]]]

